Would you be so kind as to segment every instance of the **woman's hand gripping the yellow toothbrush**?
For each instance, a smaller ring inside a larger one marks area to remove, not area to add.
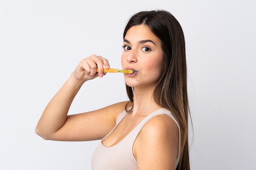
[[[87,57],[76,66],[73,76],[77,81],[86,82],[87,80],[94,79],[96,77],[103,77],[106,73],[103,71],[103,65],[105,68],[110,68],[108,60],[102,56],[92,55]],[[97,71],[98,68],[98,72]]]

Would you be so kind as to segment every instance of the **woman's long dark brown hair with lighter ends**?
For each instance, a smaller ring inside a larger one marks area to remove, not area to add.
[[[142,11],[130,18],[124,29],[124,38],[128,29],[140,24],[147,25],[161,40],[164,51],[163,73],[157,81],[153,96],[159,106],[170,110],[175,115],[180,125],[180,162],[176,170],[190,170],[188,144],[190,113],[184,33],[180,23],[168,11]],[[133,88],[126,85],[126,91],[133,103]]]

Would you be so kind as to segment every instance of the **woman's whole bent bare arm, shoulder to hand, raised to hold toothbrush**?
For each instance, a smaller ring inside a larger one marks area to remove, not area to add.
[[[36,126],[36,133],[39,136],[60,141],[94,140],[101,139],[115,126],[117,115],[124,110],[126,102],[67,116],[70,105],[83,83],[98,76],[103,77],[103,65],[109,68],[108,60],[96,55],[87,57],[79,63],[45,108]]]

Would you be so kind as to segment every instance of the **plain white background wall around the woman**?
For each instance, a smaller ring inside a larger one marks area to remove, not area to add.
[[[0,170],[90,170],[99,141],[45,141],[45,106],[84,57],[121,68],[133,13],[165,9],[186,38],[192,170],[255,170],[253,0],[0,0]],[[70,114],[127,100],[123,75],[87,82]]]

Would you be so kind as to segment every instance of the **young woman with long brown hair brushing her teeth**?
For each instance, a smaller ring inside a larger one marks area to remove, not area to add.
[[[144,11],[124,30],[123,69],[128,102],[68,115],[88,80],[103,77],[108,60],[83,59],[49,102],[36,133],[49,140],[101,139],[92,170],[189,170],[185,42],[179,22],[167,11]],[[98,72],[97,72],[98,68]]]

